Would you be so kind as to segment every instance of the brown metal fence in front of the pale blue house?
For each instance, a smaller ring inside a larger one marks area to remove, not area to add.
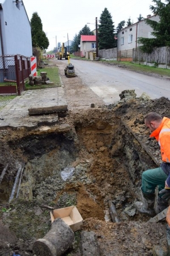
[[[0,56],[0,94],[18,94],[25,89],[24,80],[31,74],[30,57]]]

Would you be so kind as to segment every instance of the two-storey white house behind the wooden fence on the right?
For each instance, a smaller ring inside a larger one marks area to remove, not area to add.
[[[157,15],[148,15],[147,19],[155,20],[159,22],[160,18]],[[138,38],[153,38],[151,35],[152,28],[150,25],[146,24],[146,19],[140,20],[137,23],[132,24],[131,26],[125,27],[118,32],[117,35],[117,50],[128,50],[137,48],[139,43],[137,42]]]

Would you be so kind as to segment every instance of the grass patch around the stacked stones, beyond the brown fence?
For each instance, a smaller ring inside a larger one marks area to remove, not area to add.
[[[45,89],[45,88],[54,88],[54,87],[61,87],[61,82],[59,79],[59,71],[57,67],[45,67],[41,68],[37,71],[38,76],[40,76],[41,72],[46,72],[46,77],[49,78],[51,82],[54,82],[52,85],[48,84],[42,84],[42,85],[29,85],[29,81],[27,80],[25,82],[25,88],[26,90],[34,90],[34,89]]]

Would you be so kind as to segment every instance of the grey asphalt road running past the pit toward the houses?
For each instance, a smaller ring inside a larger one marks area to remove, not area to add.
[[[126,69],[97,62],[73,60],[76,75],[105,102],[106,105],[120,100],[123,90],[135,90],[137,97],[146,93],[150,98],[170,99],[170,81],[142,75]]]

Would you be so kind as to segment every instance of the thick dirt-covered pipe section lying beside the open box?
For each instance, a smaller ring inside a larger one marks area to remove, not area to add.
[[[73,230],[61,218],[56,218],[49,232],[33,243],[32,250],[36,256],[61,256],[73,242]]]

